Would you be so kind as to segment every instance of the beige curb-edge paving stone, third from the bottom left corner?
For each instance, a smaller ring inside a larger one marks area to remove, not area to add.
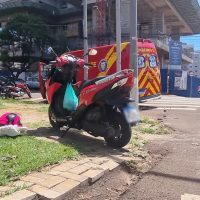
[[[80,185],[80,182],[72,180],[72,179],[67,179],[66,181],[56,185],[55,187],[52,187],[51,189],[61,193],[62,195],[66,195],[69,191],[72,189],[75,189],[77,186]]]

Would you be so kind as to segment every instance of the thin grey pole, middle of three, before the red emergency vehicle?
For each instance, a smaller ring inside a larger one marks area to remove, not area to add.
[[[121,0],[116,0],[117,72],[121,71]]]

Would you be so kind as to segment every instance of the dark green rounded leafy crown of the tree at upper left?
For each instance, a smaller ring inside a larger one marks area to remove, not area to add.
[[[40,47],[49,42],[48,32],[48,27],[41,18],[18,14],[8,22],[0,36],[6,44],[20,42],[23,54],[28,54],[33,44]]]

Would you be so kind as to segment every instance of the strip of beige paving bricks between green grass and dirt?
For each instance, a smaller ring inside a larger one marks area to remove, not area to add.
[[[68,192],[96,182],[124,161],[121,158],[114,158],[114,160],[109,157],[90,157],[79,161],[65,161],[48,171],[30,173],[16,184],[25,184],[26,189],[0,200],[62,200]]]

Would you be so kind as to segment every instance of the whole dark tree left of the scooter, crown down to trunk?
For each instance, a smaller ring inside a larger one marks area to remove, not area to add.
[[[43,49],[52,42],[48,26],[41,18],[18,14],[0,33],[0,61],[17,78],[31,63],[44,57]]]

